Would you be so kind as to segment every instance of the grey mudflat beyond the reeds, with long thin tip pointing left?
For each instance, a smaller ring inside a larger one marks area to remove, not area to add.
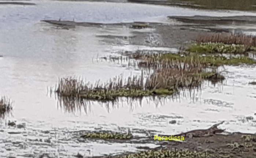
[[[75,21],[62,21],[59,20],[42,20],[53,24],[54,26],[62,29],[74,29],[76,26],[83,27],[98,27],[103,28],[108,26],[110,28],[130,28],[132,35],[120,36],[120,35],[98,35],[98,37],[104,38],[104,41],[109,44],[114,44],[113,39],[119,38],[125,39],[131,45],[145,45],[155,47],[175,47],[179,48],[184,42],[195,39],[195,37],[202,32],[208,32],[207,29],[193,29],[191,26],[176,26],[163,23],[89,23],[89,22],[75,22]],[[146,28],[134,28],[138,24],[146,25]],[[148,30],[146,30],[148,28]],[[212,29],[214,30],[214,29]],[[223,30],[223,29],[222,29]],[[217,32],[217,31],[216,31]],[[218,31],[219,32],[219,31]]]

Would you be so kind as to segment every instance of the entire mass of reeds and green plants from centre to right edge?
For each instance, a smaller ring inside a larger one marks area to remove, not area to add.
[[[183,88],[200,87],[205,79],[213,82],[225,79],[216,71],[216,67],[221,65],[256,63],[245,54],[255,45],[254,37],[211,34],[198,37],[196,42],[200,43],[189,45],[186,50],[180,49],[178,53],[138,50],[122,52],[121,56],[102,57],[101,60],[117,60],[121,64],[128,63],[128,67],[138,67],[141,69],[141,75],[128,78],[116,76],[105,83],[98,81],[95,84],[85,83],[76,78],[62,78],[59,79],[54,91],[62,97],[75,96],[101,101],[115,100],[118,97],[172,95]],[[210,71],[207,68],[211,68]],[[146,74],[145,69],[152,69],[152,72]]]

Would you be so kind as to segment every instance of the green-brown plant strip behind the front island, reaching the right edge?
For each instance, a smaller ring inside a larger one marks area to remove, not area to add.
[[[137,55],[138,56],[138,55]],[[247,57],[225,57],[216,55],[200,56],[198,54],[143,54],[140,57],[142,61],[138,65],[140,67],[181,67],[185,64],[186,68],[204,68],[208,66],[221,66],[221,65],[238,65],[238,64],[255,64],[256,61]]]

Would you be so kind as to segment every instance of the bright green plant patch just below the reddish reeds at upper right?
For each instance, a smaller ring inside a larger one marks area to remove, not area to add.
[[[245,45],[223,44],[220,42],[194,43],[187,49],[195,53],[244,53],[249,50]]]

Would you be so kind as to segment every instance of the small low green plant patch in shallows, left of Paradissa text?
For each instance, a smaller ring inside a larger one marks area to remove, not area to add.
[[[117,133],[117,132],[90,132],[81,136],[82,138],[99,138],[99,139],[131,139],[131,133]]]

